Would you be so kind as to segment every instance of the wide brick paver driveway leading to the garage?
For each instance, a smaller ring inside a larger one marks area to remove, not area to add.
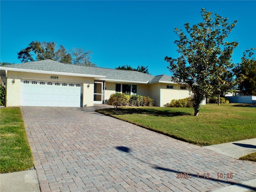
[[[42,192],[203,192],[256,178],[252,162],[98,114],[93,107],[21,110]]]

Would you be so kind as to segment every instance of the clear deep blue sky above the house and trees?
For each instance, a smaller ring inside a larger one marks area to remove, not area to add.
[[[93,52],[98,67],[148,66],[167,74],[165,56],[176,57],[174,28],[202,22],[201,8],[229,22],[238,20],[228,41],[239,42],[240,62],[256,47],[256,1],[0,1],[0,61],[20,63],[17,52],[32,41],[56,42]]]

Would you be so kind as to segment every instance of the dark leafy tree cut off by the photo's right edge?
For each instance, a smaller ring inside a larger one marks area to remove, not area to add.
[[[241,63],[234,68],[236,83],[244,95],[256,96],[256,59],[254,51],[256,48],[246,50],[241,58]]]

